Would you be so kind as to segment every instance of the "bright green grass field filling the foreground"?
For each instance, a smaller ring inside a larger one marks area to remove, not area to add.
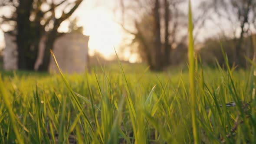
[[[102,65],[66,79],[1,72],[0,142],[193,143],[187,70],[154,73],[145,65],[122,66],[124,71],[118,64]],[[197,69],[201,142],[255,141],[255,80],[249,70],[234,71],[231,79],[226,70]],[[226,107],[230,101],[236,106]]]

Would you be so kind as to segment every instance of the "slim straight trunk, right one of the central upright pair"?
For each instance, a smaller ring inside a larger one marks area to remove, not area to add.
[[[169,44],[169,3],[164,0],[164,24],[165,24],[165,36],[164,36],[164,64],[165,66],[170,65],[171,46]]]

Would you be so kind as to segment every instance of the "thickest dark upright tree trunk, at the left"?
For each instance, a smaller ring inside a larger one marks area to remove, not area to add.
[[[34,69],[41,39],[40,20],[30,21],[32,3],[33,0],[23,0],[17,7],[18,68],[23,70]]]

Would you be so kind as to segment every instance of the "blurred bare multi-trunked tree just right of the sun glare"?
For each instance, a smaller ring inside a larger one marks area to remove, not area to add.
[[[183,2],[184,0],[164,0],[163,3],[161,0],[120,0],[122,17],[119,24],[125,32],[134,36],[132,47],[137,49],[135,52],[150,65],[151,70],[162,70],[169,65],[172,47],[184,40],[180,33],[176,33],[177,29],[185,26],[181,24],[184,14],[178,7]],[[173,13],[171,8],[174,9]]]

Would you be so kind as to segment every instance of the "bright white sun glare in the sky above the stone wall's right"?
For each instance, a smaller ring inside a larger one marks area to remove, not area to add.
[[[84,26],[84,34],[90,36],[89,54],[94,51],[111,59],[122,40],[120,26],[113,20],[113,15],[104,7],[97,7],[86,13],[79,14],[79,25]]]

